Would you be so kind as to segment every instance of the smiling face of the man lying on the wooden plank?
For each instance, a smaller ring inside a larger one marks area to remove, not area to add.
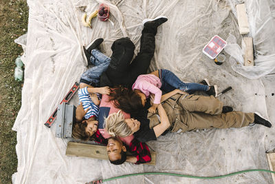
[[[121,152],[126,152],[126,147],[122,141],[117,138],[110,138],[106,147],[107,155],[110,161],[117,161],[121,159]]]

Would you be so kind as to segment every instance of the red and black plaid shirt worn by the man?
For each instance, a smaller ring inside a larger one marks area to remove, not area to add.
[[[96,131],[95,136],[94,136],[94,141],[97,143],[100,143],[102,145],[107,145],[108,140],[104,139],[104,137],[100,134],[99,130]],[[140,163],[146,163],[151,161],[151,153],[146,145],[146,143],[141,143],[140,141],[137,141],[137,139],[133,139],[131,141],[129,147],[129,152],[133,154],[137,158],[137,162],[135,164],[140,164]]]

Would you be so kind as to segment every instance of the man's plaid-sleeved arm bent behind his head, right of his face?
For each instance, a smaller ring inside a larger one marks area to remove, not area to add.
[[[151,161],[151,153],[146,143],[140,143],[137,139],[133,139],[129,145],[129,148],[129,151],[133,153],[134,156],[127,156],[127,161],[132,163],[135,161],[135,164]]]

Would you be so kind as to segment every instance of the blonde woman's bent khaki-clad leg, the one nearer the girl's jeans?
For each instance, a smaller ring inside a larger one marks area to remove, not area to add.
[[[206,114],[221,114],[223,110],[223,103],[214,96],[199,96],[188,95],[185,98],[180,97],[178,100],[184,110],[188,112],[203,112]]]

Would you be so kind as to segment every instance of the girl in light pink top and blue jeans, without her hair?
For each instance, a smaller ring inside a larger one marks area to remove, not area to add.
[[[211,85],[207,79],[204,79],[203,84],[200,83],[184,83],[173,72],[160,69],[151,74],[142,74],[137,77],[133,83],[132,90],[140,96],[144,105],[150,94],[155,95],[153,105],[148,109],[149,112],[155,113],[157,105],[162,99],[162,90],[164,92],[172,92],[175,89],[181,92],[205,91],[208,95],[217,96],[217,86]]]

